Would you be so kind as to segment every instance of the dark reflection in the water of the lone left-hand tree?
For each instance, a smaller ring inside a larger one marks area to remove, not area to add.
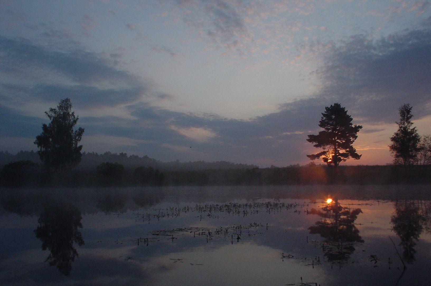
[[[72,262],[78,257],[74,243],[84,244],[81,232],[81,211],[72,204],[51,203],[44,208],[39,217],[39,225],[34,230],[42,241],[42,249],[48,249],[50,255],[45,262],[56,265],[66,276],[72,270]]]

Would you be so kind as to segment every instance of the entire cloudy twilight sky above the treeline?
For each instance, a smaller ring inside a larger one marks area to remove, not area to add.
[[[64,98],[85,152],[260,167],[311,162],[340,103],[363,126],[342,164],[388,164],[401,105],[431,134],[431,5],[0,0],[0,150],[37,150]]]

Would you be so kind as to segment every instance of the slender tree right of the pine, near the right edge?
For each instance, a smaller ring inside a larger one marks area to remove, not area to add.
[[[392,144],[389,145],[389,149],[394,156],[394,164],[406,166],[414,163],[415,156],[420,151],[420,136],[410,121],[413,117],[412,106],[403,104],[398,111],[400,112],[400,121],[396,122],[398,130],[390,137]]]

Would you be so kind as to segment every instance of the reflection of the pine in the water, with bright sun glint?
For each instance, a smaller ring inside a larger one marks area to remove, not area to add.
[[[326,205],[322,210],[313,208],[309,211],[309,214],[322,217],[308,229],[311,234],[320,234],[324,238],[322,249],[329,262],[341,266],[355,251],[355,243],[364,242],[354,224],[360,213],[362,213],[360,208],[351,210],[342,207],[337,200]]]

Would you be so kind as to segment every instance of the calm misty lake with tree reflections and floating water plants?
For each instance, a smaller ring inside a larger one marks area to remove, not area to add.
[[[425,285],[430,186],[2,189],[1,285]]]

